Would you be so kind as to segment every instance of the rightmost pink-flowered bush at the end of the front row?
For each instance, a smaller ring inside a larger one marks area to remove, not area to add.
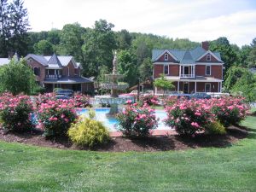
[[[243,102],[242,97],[224,96],[209,100],[212,113],[225,127],[238,125],[242,119],[246,118],[248,105]]]

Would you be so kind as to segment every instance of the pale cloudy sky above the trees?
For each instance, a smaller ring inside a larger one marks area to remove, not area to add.
[[[113,31],[195,42],[227,37],[241,47],[256,38],[256,0],[24,0],[24,6],[33,32],[103,19]]]

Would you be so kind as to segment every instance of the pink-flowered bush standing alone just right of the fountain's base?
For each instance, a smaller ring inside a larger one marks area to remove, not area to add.
[[[119,130],[125,136],[147,137],[150,131],[157,127],[157,121],[154,109],[150,108],[147,103],[139,107],[137,103],[128,102],[122,113],[117,115],[119,121]]]

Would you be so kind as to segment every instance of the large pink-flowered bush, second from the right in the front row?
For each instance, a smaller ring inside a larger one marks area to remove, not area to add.
[[[206,100],[177,100],[166,106],[165,122],[178,134],[193,136],[197,131],[204,131],[212,121],[210,109]]]

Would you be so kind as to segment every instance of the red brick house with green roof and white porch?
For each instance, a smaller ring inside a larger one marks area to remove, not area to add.
[[[221,92],[224,62],[208,47],[208,42],[202,42],[191,50],[153,49],[153,78],[162,73],[183,93]]]

